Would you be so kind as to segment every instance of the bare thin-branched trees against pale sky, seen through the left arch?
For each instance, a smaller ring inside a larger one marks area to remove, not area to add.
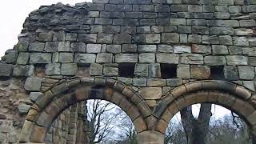
[[[87,111],[90,144],[137,143],[134,125],[120,107],[103,100],[90,100]]]

